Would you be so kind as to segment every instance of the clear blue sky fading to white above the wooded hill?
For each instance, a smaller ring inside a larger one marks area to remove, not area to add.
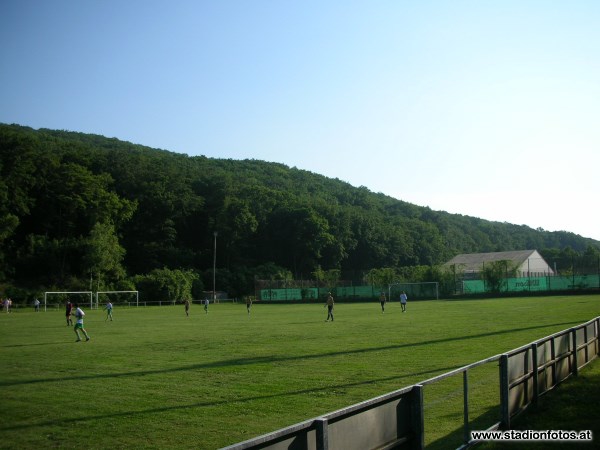
[[[600,2],[2,0],[0,122],[600,240]]]

